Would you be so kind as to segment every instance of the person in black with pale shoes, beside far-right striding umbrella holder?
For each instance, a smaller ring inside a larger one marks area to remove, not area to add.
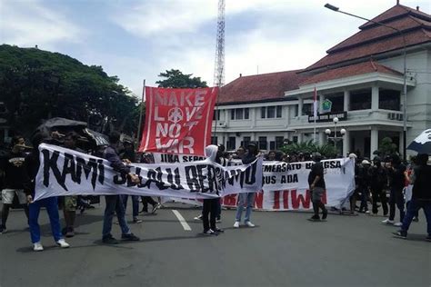
[[[404,220],[404,194],[403,189],[405,186],[405,172],[406,165],[401,163],[401,159],[397,154],[391,156],[391,168],[389,169],[390,178],[390,196],[389,196],[389,218],[382,223],[394,224],[401,226]],[[399,210],[399,223],[395,223],[396,207]]]

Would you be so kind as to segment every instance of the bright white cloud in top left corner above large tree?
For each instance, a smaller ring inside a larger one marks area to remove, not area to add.
[[[52,49],[59,42],[79,42],[83,31],[65,20],[61,9],[47,6],[34,0],[2,0],[0,42],[44,49]]]

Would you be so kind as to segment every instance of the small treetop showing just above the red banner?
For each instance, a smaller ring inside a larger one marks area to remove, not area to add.
[[[158,76],[166,78],[155,82],[162,88],[205,88],[206,82],[200,77],[193,77],[193,74],[183,74],[180,70],[171,69],[165,73],[160,73]]]

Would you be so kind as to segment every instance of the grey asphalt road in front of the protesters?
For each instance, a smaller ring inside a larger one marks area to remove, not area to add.
[[[131,205],[131,204],[129,204]],[[431,286],[431,242],[426,223],[412,223],[408,240],[392,238],[383,217],[255,212],[256,228],[234,229],[223,211],[219,236],[203,236],[200,212],[172,209],[130,223],[140,242],[101,243],[103,205],[77,217],[69,249],[54,244],[42,211],[44,252],[33,252],[23,211],[13,211],[0,235],[0,286]],[[130,211],[128,211],[130,213]],[[128,216],[131,220],[131,216]],[[119,238],[118,225],[114,235]]]

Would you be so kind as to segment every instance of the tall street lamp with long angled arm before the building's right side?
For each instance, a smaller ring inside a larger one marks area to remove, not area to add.
[[[329,10],[341,13],[341,14],[346,14],[352,17],[356,17],[362,20],[366,20],[368,22],[374,23],[376,25],[381,25],[381,26],[385,26],[387,28],[390,28],[394,31],[396,31],[399,35],[401,35],[403,37],[403,160],[406,161],[406,147],[407,147],[407,113],[406,113],[406,105],[407,105],[407,84],[406,84],[406,35],[399,29],[397,29],[396,27],[393,27],[391,25],[386,25],[377,21],[373,21],[358,15],[354,15],[354,14],[350,14],[344,11],[341,11],[338,7],[336,7],[335,5],[330,5],[329,3],[326,3],[325,5],[326,8],[328,8]]]

